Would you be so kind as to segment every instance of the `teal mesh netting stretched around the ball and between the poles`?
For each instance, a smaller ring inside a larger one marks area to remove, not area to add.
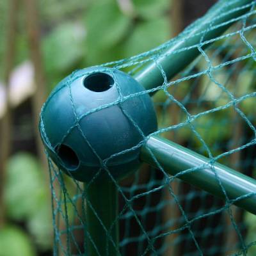
[[[158,120],[154,134],[251,177],[256,175],[254,4],[252,1],[250,10],[237,17],[225,34],[212,39],[213,44],[207,49],[204,45],[209,42],[205,43],[202,33],[201,42],[193,46],[200,51],[200,56],[171,81],[147,90],[148,93],[157,91],[152,98]],[[227,13],[220,13],[214,19],[225,15]],[[189,26],[183,35],[189,35],[198,24],[200,20]],[[179,40],[177,36],[152,51],[100,67],[134,75]],[[76,79],[76,72],[73,79]],[[86,185],[63,174],[51,158],[49,170],[54,255],[83,255],[86,237],[90,239],[85,220]],[[166,176],[164,170],[143,164],[131,177],[115,182],[119,191],[116,221],[120,225],[120,253],[117,255],[256,255],[256,217],[253,214],[177,178],[166,182]]]

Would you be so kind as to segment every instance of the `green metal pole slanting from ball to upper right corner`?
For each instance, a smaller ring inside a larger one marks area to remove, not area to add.
[[[164,82],[163,74],[157,66],[163,68],[167,79],[170,80],[200,54],[196,45],[200,44],[201,40],[202,42],[206,42],[207,40],[220,36],[234,24],[235,20],[229,22],[230,20],[236,19],[252,8],[250,3],[253,3],[253,1],[219,1],[204,17],[194,23],[196,26],[193,26],[194,24],[189,26],[189,30],[186,29],[179,35],[177,42],[170,44],[170,47],[168,47],[156,61],[152,61],[152,63],[140,70],[134,78],[147,90],[161,86]],[[223,15],[223,13],[226,14]],[[227,24],[224,24],[225,22],[227,22]],[[193,47],[193,45],[195,45],[195,47]],[[202,48],[209,45],[210,44],[204,44]],[[191,48],[182,51],[185,47]]]

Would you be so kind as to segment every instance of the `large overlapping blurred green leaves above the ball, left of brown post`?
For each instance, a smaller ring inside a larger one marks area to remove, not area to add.
[[[170,38],[170,20],[163,15],[170,1],[134,1],[129,13],[116,3],[98,0],[88,6],[84,20],[88,66],[148,51]]]

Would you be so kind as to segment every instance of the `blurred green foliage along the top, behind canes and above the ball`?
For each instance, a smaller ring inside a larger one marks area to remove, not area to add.
[[[76,68],[148,51],[172,35],[168,17],[170,0],[134,0],[131,1],[131,12],[125,12],[120,1],[116,0],[48,2],[38,1],[49,92],[63,76]],[[1,12],[5,14],[0,19],[1,67],[4,67],[7,3],[4,0],[0,5]],[[18,13],[17,63],[29,58],[24,18],[24,12]],[[0,76],[3,78],[3,70]]]

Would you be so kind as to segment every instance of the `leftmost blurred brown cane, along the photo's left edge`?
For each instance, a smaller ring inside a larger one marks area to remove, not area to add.
[[[10,0],[8,12],[8,23],[6,33],[6,58],[5,58],[5,72],[4,83],[6,84],[6,111],[1,122],[1,136],[0,136],[0,227],[3,227],[5,222],[4,211],[4,198],[3,189],[5,182],[6,161],[11,151],[11,139],[12,139],[12,113],[10,109],[10,97],[9,97],[9,84],[10,74],[13,68],[15,58],[15,38],[17,31],[17,12],[18,12],[18,0]]]

